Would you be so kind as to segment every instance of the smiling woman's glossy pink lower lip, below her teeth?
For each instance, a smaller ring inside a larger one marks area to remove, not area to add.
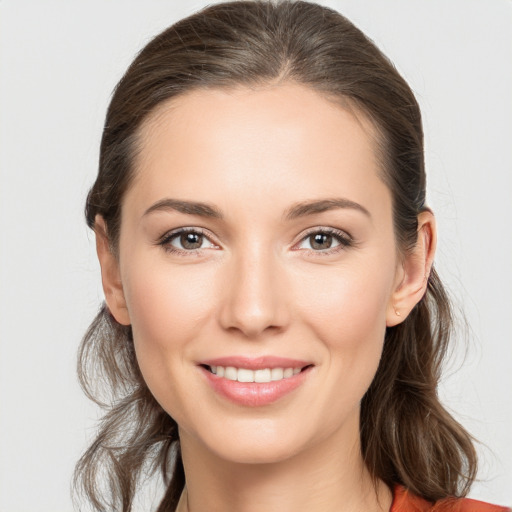
[[[231,402],[246,407],[260,407],[276,402],[297,389],[307,379],[311,371],[311,367],[308,367],[292,377],[272,382],[238,382],[217,377],[206,368],[200,368],[214,391]]]

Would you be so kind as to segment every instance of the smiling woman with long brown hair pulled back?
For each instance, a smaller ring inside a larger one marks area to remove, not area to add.
[[[80,375],[113,393],[76,472],[97,510],[157,469],[159,511],[500,510],[453,499],[476,456],[436,394],[419,108],[345,18],[233,2],[157,36],[86,215],[106,305]]]

